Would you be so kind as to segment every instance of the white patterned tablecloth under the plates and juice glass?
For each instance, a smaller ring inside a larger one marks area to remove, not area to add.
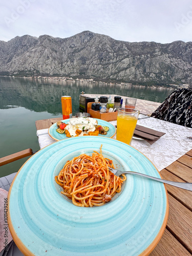
[[[110,122],[116,124],[116,121]],[[164,132],[159,140],[150,145],[144,140],[133,139],[131,146],[143,153],[160,171],[169,164],[175,162],[192,148],[192,129],[178,124],[169,123],[153,117],[143,118],[137,122],[140,125],[150,127],[159,132]],[[48,129],[38,130],[37,137],[40,148],[43,148],[53,142]],[[115,139],[116,137],[114,137]]]

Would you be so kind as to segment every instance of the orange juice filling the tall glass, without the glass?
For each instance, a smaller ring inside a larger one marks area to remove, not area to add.
[[[116,138],[126,144],[131,144],[134,130],[137,124],[137,117],[125,114],[117,116]]]

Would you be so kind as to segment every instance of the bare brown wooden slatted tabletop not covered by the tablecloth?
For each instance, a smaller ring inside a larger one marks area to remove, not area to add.
[[[35,122],[36,129],[47,129],[62,120],[50,118]],[[192,145],[192,141],[191,141]],[[192,183],[192,149],[161,170],[165,180]],[[163,236],[150,253],[151,256],[192,254],[192,191],[166,185],[169,200],[169,216]]]

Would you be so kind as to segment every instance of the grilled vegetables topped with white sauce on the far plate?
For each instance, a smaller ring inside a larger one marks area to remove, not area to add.
[[[60,134],[66,134],[66,137],[106,135],[109,131],[108,126],[98,125],[97,120],[91,117],[71,118],[68,123],[59,121],[57,127],[56,131]]]

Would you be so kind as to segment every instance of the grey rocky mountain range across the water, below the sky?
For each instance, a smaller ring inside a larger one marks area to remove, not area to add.
[[[63,75],[191,83],[192,42],[125,42],[84,31],[0,41],[0,75]]]

